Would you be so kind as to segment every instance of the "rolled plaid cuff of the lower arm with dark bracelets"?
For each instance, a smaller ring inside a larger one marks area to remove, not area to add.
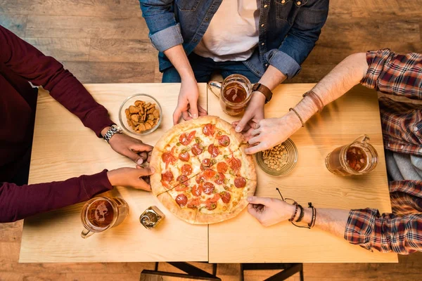
[[[376,227],[376,218],[379,212],[376,209],[350,210],[345,229],[345,240],[350,244],[358,244],[371,249],[371,235]]]

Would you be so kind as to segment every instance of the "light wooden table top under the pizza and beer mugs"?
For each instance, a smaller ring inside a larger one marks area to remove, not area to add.
[[[118,109],[127,96],[149,93],[160,101],[164,119],[155,133],[143,141],[155,144],[172,126],[179,84],[88,84],[99,103],[106,106],[117,122]],[[286,84],[274,91],[266,107],[266,117],[279,117],[300,100],[313,84]],[[233,120],[219,108],[217,98],[200,84],[200,103],[210,115]],[[350,143],[368,133],[380,156],[370,176],[342,178],[330,174],[324,158],[333,148]],[[390,211],[381,124],[376,93],[357,87],[322,115],[311,119],[291,137],[299,159],[288,176],[271,177],[258,171],[257,195],[283,195],[316,207],[374,207]],[[84,128],[75,116],[40,91],[34,131],[30,183],[60,181],[102,169],[133,166],[104,141]],[[106,195],[121,196],[129,203],[129,217],[117,228],[83,240],[79,212],[82,204],[27,218],[23,228],[20,262],[77,261],[210,261],[237,262],[397,262],[395,254],[370,252],[316,228],[300,229],[288,223],[263,228],[247,211],[223,223],[193,226],[180,221],[162,207],[151,193],[117,187]],[[156,230],[139,223],[141,212],[157,205],[166,219]]]

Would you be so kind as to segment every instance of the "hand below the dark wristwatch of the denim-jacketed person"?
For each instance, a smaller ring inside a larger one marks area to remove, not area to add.
[[[233,122],[235,130],[240,133],[241,131],[247,132],[249,129],[255,129],[257,123],[264,119],[264,105],[265,96],[260,92],[253,92],[252,98],[245,109],[245,113],[240,121]]]

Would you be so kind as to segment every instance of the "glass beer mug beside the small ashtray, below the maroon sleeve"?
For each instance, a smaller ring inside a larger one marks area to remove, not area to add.
[[[82,207],[81,221],[84,226],[81,236],[87,238],[108,228],[120,225],[129,214],[127,202],[119,197],[95,197]]]

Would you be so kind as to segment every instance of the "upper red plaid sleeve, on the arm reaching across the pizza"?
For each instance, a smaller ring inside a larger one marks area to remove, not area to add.
[[[361,84],[383,93],[422,99],[422,54],[385,48],[366,53],[368,71]]]

